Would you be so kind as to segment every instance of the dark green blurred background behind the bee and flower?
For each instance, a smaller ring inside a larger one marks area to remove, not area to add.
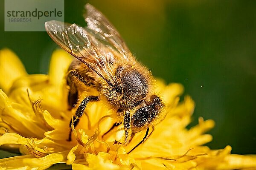
[[[12,49],[29,74],[46,74],[57,45],[46,32],[5,32],[0,2],[0,48]],[[215,120],[207,146],[256,153],[255,0],[65,0],[65,21],[85,26],[85,3],[108,17],[155,77],[184,85],[196,103],[189,127],[199,116]]]

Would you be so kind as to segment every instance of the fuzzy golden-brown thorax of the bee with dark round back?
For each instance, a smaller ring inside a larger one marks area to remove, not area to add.
[[[114,107],[129,110],[148,94],[148,82],[138,71],[119,67],[116,83],[102,84],[101,92]]]

